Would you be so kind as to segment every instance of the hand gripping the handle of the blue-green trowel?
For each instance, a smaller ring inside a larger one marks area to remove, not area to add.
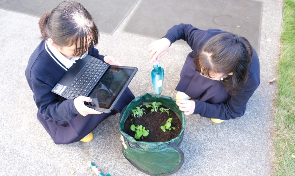
[[[171,42],[167,38],[162,38],[151,43],[148,46],[150,63],[154,62],[156,58],[159,59],[161,56],[163,56],[170,47],[170,45]]]

